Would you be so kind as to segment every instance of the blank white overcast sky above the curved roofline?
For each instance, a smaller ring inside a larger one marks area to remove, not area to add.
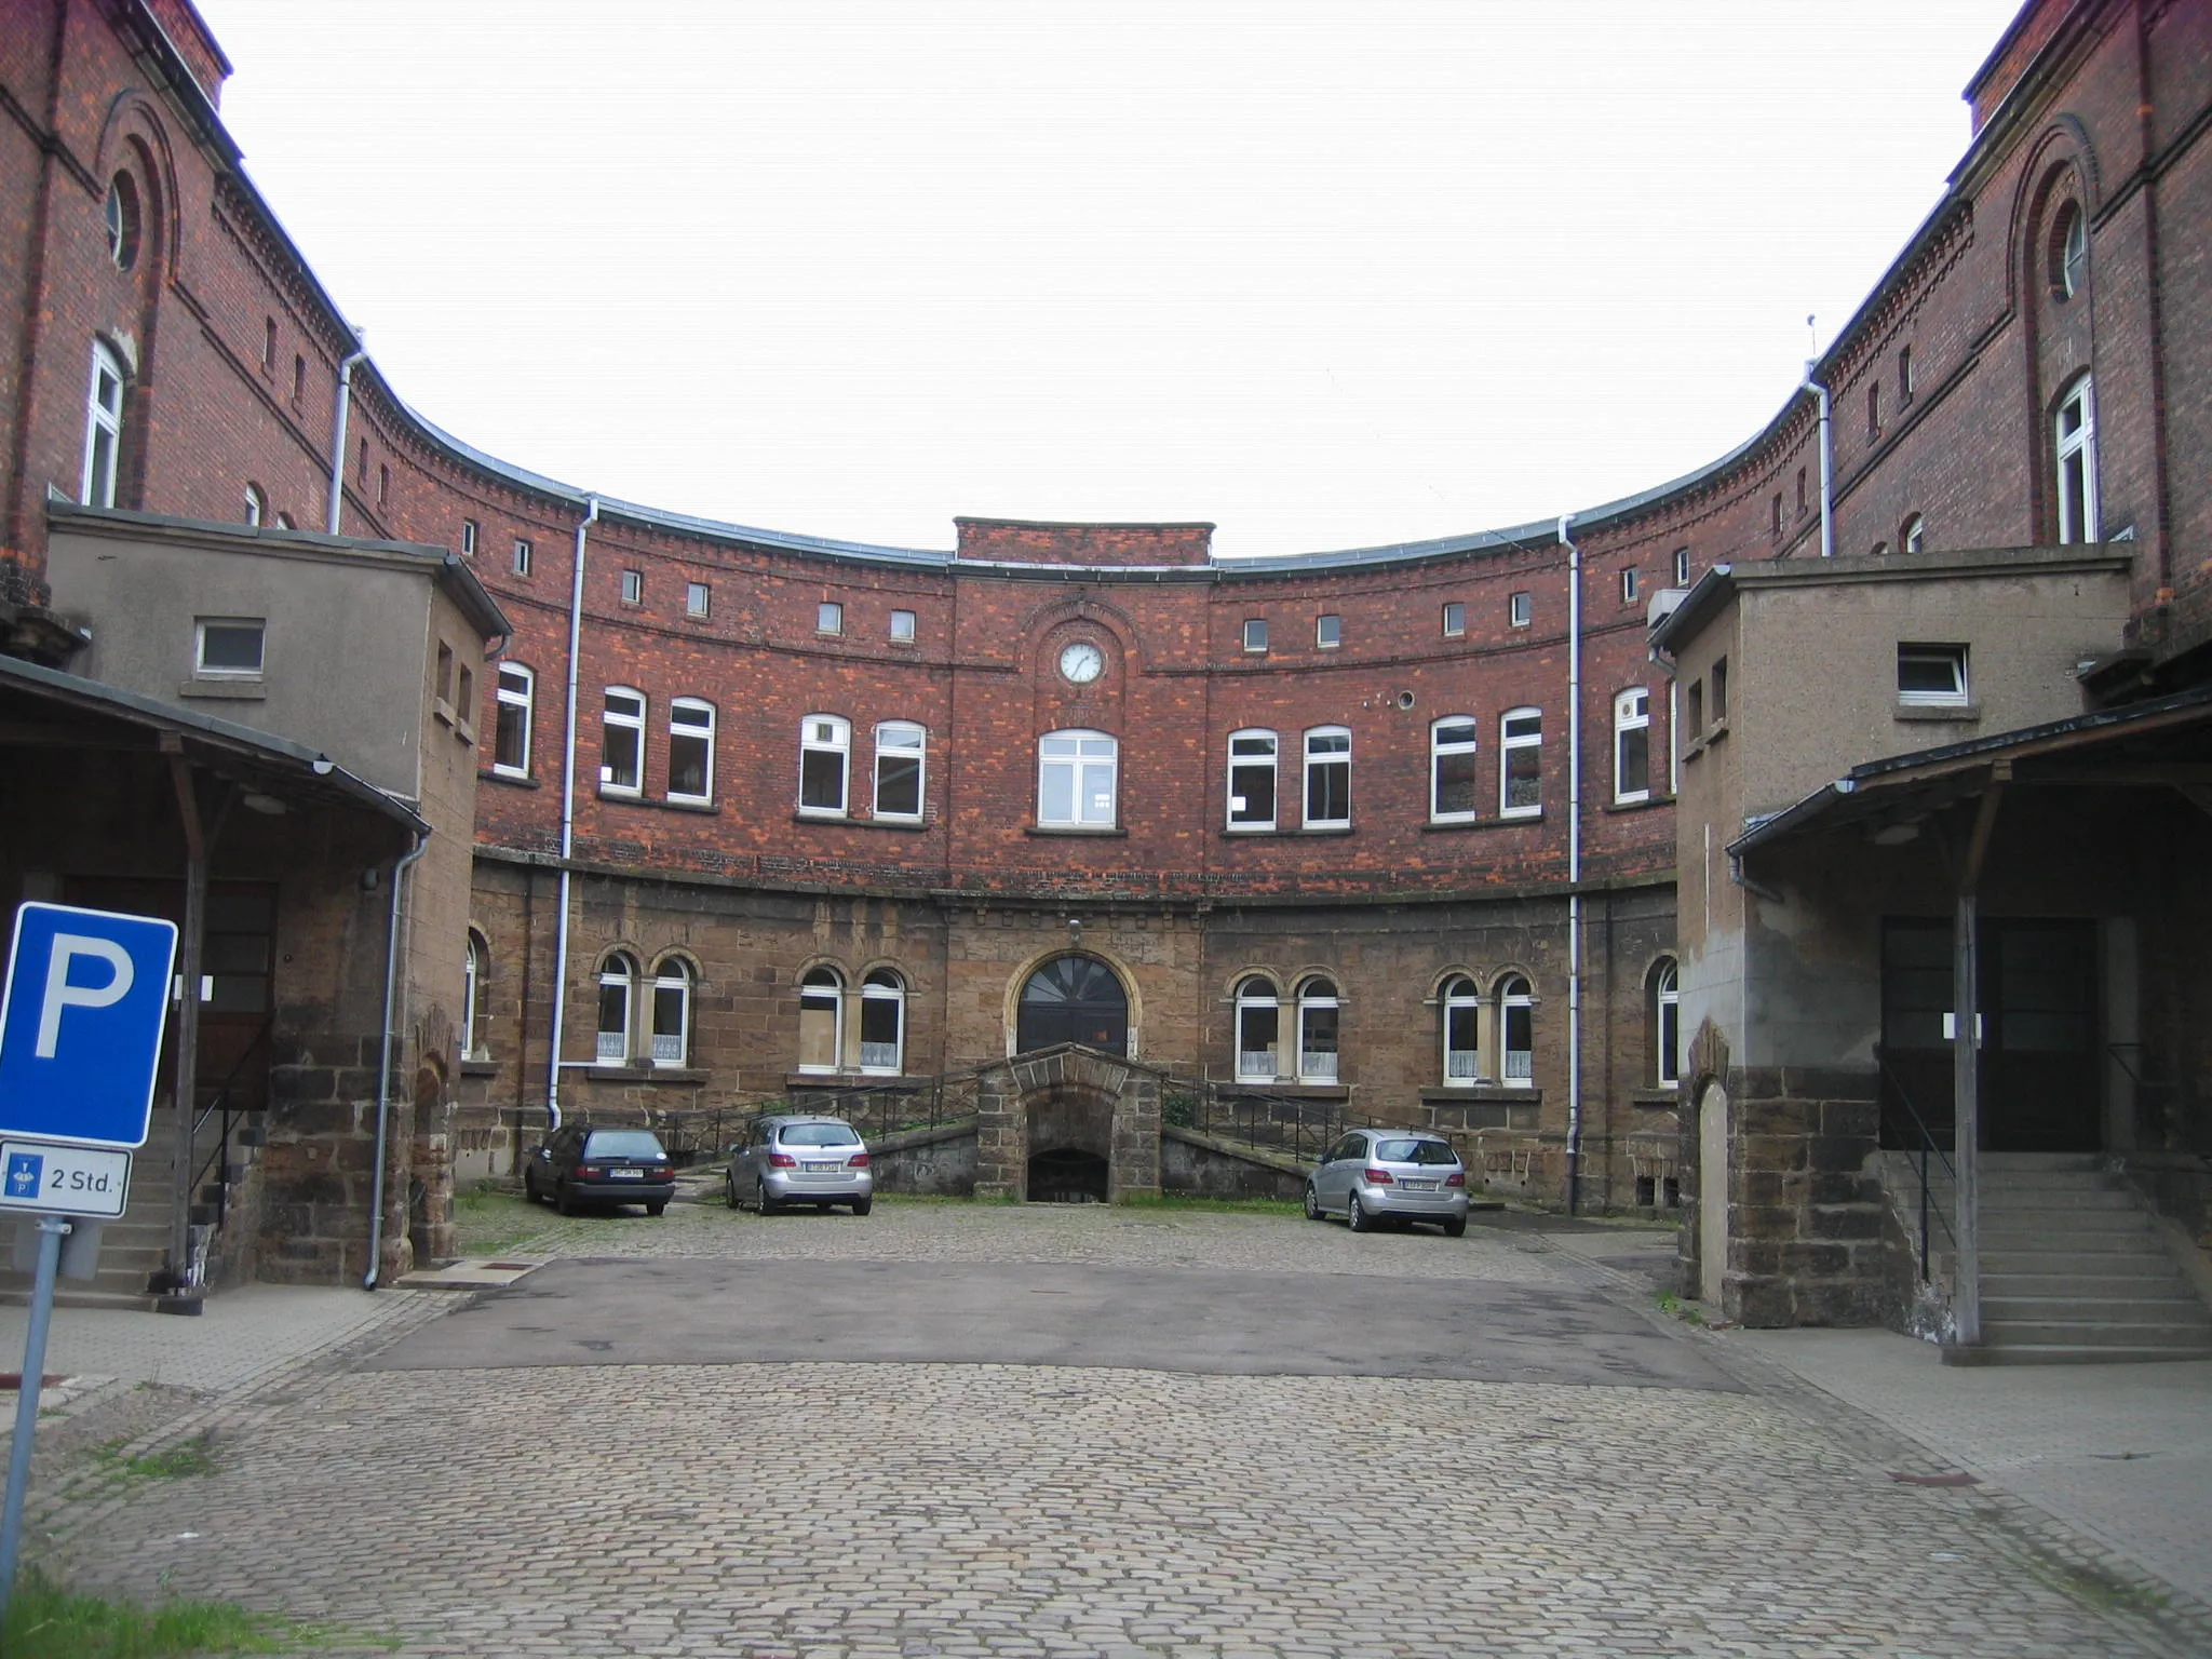
[[[584,489],[949,546],[1504,526],[1756,431],[2017,0],[199,0],[416,409]]]

